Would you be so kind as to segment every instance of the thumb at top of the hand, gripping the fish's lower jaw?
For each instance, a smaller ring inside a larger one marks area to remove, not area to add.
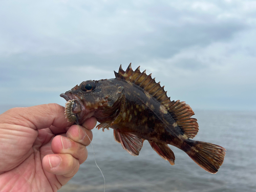
[[[65,108],[56,103],[41,104],[27,108],[13,108],[0,115],[0,123],[16,124],[34,130],[55,126],[65,129],[69,123],[65,117]]]

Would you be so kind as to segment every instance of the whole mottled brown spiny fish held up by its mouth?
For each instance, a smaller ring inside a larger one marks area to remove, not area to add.
[[[124,71],[120,65],[115,78],[83,81],[60,94],[66,99],[66,118],[81,125],[94,116],[97,129],[114,130],[114,139],[124,150],[138,156],[147,140],[153,150],[171,165],[173,145],[184,151],[200,167],[216,174],[225,157],[222,146],[192,140],[199,131],[195,113],[184,101],[171,101],[164,86],[140,67],[131,63]]]

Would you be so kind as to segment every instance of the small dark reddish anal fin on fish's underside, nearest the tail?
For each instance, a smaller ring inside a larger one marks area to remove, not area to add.
[[[166,143],[162,142],[154,142],[154,141],[148,141],[150,142],[150,145],[152,146],[153,150],[157,152],[158,155],[160,155],[164,160],[169,161],[171,165],[174,165],[175,161],[175,155],[172,150],[168,147]]]

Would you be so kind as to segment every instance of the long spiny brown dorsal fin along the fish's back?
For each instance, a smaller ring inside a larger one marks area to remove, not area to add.
[[[167,97],[166,91],[164,91],[164,86],[161,87],[160,82],[157,83],[155,78],[152,79],[151,74],[146,75],[146,70],[140,72],[140,66],[133,71],[131,65],[132,63],[130,63],[125,71],[123,71],[122,66],[120,65],[118,73],[114,71],[116,78],[124,79],[136,84],[146,93],[158,100],[172,115],[184,135],[188,138],[194,138],[198,133],[198,123],[197,119],[190,118],[194,115],[190,106],[184,101],[170,101],[170,97]]]

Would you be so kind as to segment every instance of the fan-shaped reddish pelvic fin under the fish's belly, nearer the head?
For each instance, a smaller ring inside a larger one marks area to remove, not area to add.
[[[130,153],[132,156],[138,156],[143,145],[143,139],[139,136],[125,133],[119,129],[114,130],[114,138],[117,142],[121,143],[124,150]]]

